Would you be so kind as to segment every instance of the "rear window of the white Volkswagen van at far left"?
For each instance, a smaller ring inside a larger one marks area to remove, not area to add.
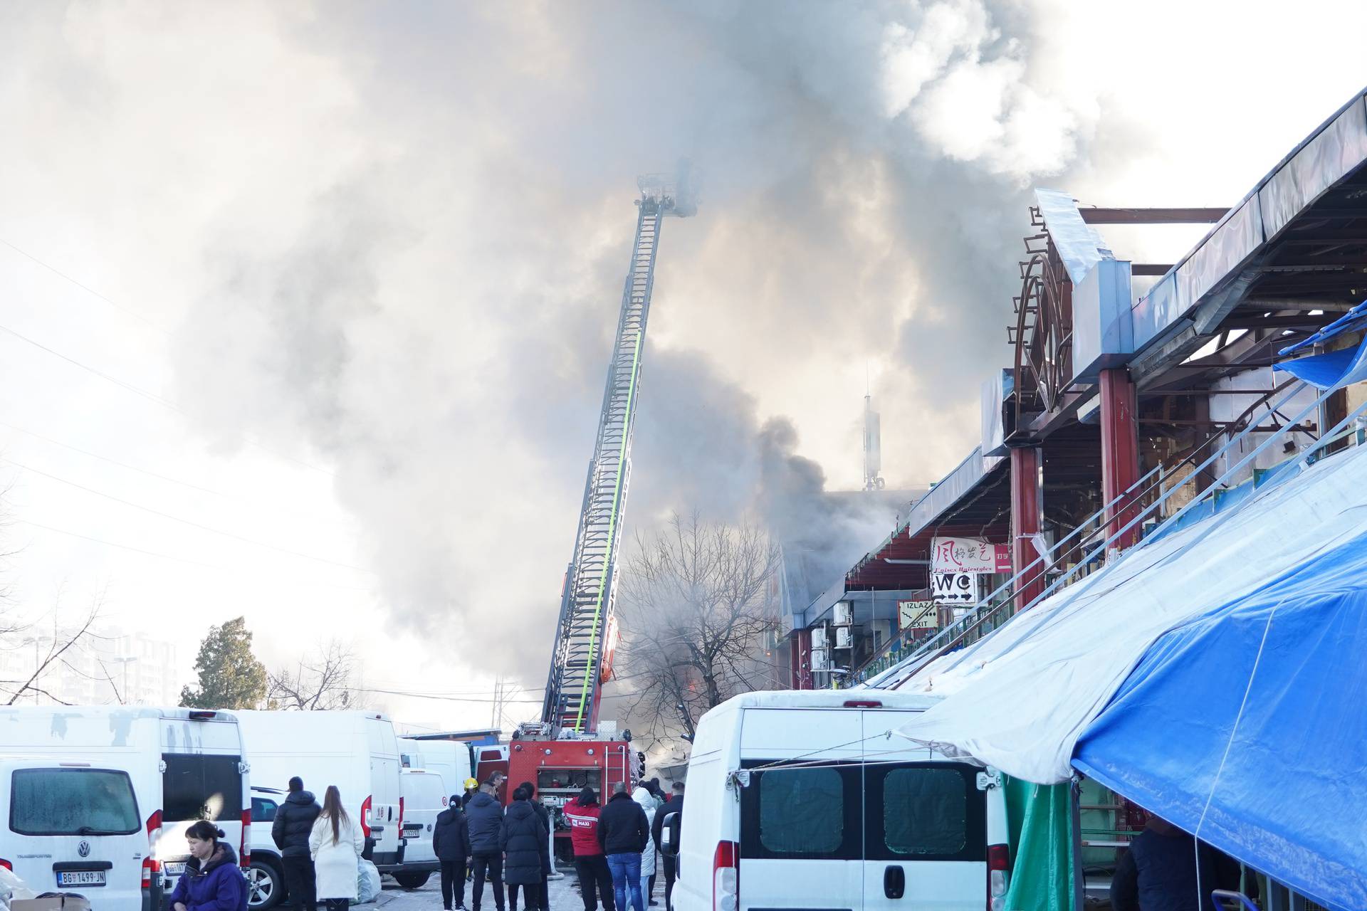
[[[133,781],[112,769],[15,769],[10,829],[19,835],[133,835]]]

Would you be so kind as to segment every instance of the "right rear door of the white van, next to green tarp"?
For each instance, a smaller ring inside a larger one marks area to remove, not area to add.
[[[869,753],[910,713],[863,712]],[[901,717],[898,717],[901,716]],[[987,904],[987,799],[980,766],[905,751],[864,768],[865,911],[982,911]]]

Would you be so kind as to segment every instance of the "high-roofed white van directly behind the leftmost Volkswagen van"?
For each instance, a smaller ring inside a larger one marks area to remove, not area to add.
[[[0,744],[11,755],[75,757],[115,763],[133,779],[152,855],[142,880],[152,891],[172,889],[190,859],[185,832],[209,819],[250,863],[247,763],[231,712],[144,706],[7,706],[0,709]]]

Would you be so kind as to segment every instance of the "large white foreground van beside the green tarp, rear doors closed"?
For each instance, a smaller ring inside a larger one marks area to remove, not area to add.
[[[749,692],[703,716],[678,911],[999,911],[1001,777],[894,733],[934,705],[883,690]]]

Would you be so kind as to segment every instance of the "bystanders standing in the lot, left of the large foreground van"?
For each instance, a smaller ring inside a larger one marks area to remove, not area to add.
[[[524,781],[507,809],[499,789],[507,776],[465,783],[463,795],[450,803],[433,825],[432,850],[440,863],[443,911],[466,911],[465,884],[472,882],[470,908],[480,911],[489,886],[498,911],[550,911],[547,882],[552,871],[551,814],[536,800],[536,785]],[[663,822],[682,813],[684,784],[673,794],[652,779],[630,791],[618,783],[607,804],[593,788],[584,788],[563,811],[570,826],[574,866],[585,911],[645,911],[658,906],[655,892],[659,858],[664,867],[664,904],[673,911],[678,860],[659,851]],[[365,851],[361,826],[342,806],[335,785],[323,804],[290,779],[290,792],[275,813],[271,835],[280,848],[284,884],[294,911],[347,911],[357,899],[357,869]],[[232,845],[212,822],[195,822],[186,839],[190,860],[167,904],[171,911],[246,911],[247,885]],[[506,892],[504,892],[506,891]],[[504,901],[506,895],[506,901]]]

